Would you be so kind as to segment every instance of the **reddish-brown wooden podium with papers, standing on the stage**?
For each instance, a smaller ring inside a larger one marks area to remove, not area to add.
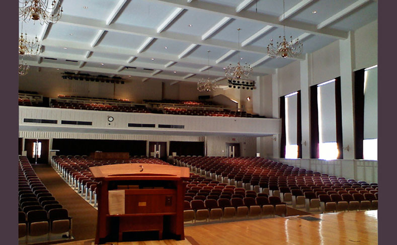
[[[98,221],[95,244],[122,241],[123,232],[158,231],[185,239],[184,180],[189,169],[157,164],[115,164],[91,167],[97,182]]]

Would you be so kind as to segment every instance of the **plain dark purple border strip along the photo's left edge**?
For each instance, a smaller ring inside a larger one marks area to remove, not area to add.
[[[3,244],[18,244],[18,1],[4,1],[1,39],[2,61],[2,223],[7,234]],[[14,210],[11,211],[11,210]]]

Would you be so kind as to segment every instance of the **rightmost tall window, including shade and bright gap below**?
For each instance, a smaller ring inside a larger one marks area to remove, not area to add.
[[[378,159],[378,67],[364,70],[363,158]]]

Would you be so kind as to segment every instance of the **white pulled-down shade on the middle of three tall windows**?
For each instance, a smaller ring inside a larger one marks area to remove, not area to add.
[[[317,87],[319,143],[336,142],[335,80]]]

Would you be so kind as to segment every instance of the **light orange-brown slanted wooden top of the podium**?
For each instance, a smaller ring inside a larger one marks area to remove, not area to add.
[[[189,179],[189,168],[158,164],[113,164],[91,167],[96,180],[178,180]]]

